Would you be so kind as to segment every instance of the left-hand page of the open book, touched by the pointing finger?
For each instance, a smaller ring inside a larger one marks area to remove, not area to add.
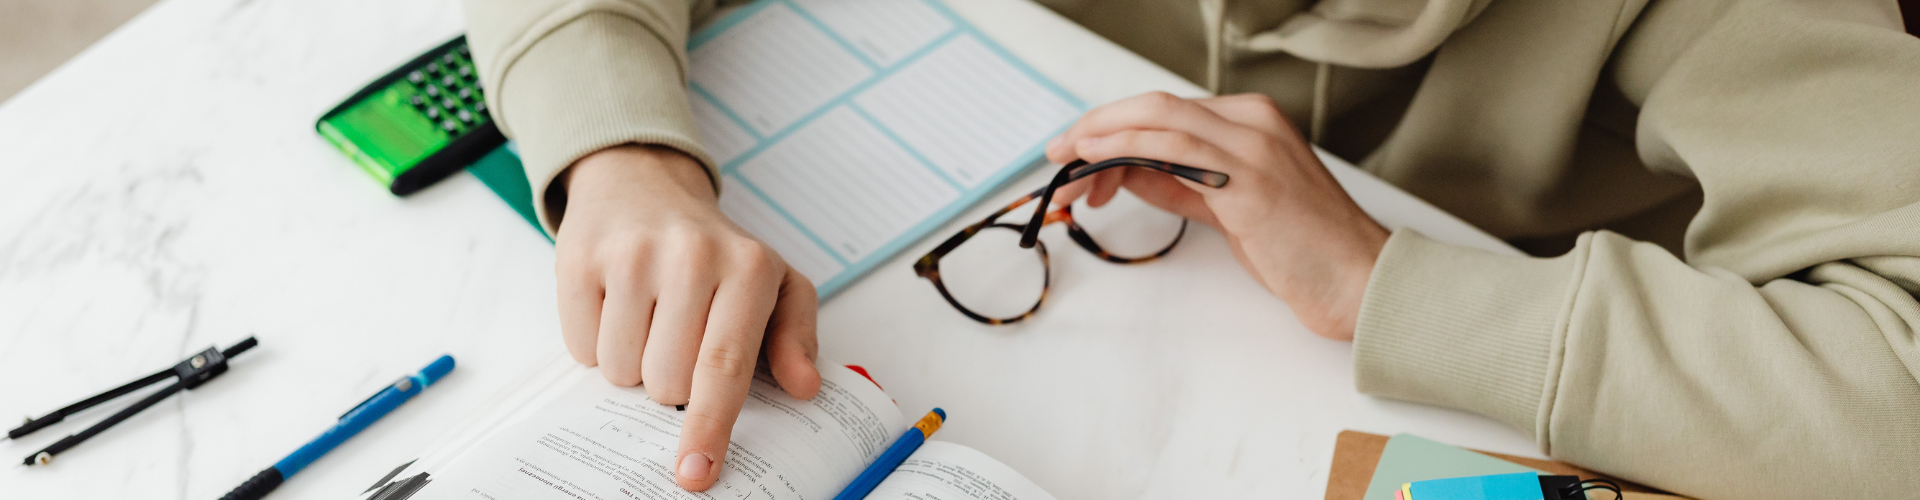
[[[812,400],[789,398],[755,379],[726,465],[707,492],[674,483],[685,412],[578,367],[553,385],[559,396],[522,410],[524,419],[436,467],[432,483],[413,498],[831,498],[906,423],[893,400],[858,373],[828,365],[820,375]]]

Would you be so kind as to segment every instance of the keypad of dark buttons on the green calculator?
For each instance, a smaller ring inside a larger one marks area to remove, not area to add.
[[[492,121],[486,113],[480,71],[474,69],[465,44],[409,71],[407,83],[411,87],[403,88],[409,92],[407,104],[455,138]]]

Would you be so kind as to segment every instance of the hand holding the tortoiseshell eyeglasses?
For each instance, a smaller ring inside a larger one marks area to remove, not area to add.
[[[1075,181],[1102,206],[1125,187],[1140,200],[1227,235],[1233,256],[1313,333],[1352,340],[1386,229],[1367,217],[1321,165],[1273,100],[1261,94],[1177,98],[1150,92],[1100,106],[1046,144],[1046,160],[1150,158],[1227,173],[1210,188],[1146,169]]]

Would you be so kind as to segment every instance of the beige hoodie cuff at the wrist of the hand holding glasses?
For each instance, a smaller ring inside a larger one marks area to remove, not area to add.
[[[1354,327],[1359,392],[1482,413],[1538,442],[1588,238],[1515,258],[1396,231]]]

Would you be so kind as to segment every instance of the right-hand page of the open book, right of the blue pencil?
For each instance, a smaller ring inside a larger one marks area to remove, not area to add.
[[[1054,500],[1006,463],[979,450],[927,440],[893,469],[868,500]]]

